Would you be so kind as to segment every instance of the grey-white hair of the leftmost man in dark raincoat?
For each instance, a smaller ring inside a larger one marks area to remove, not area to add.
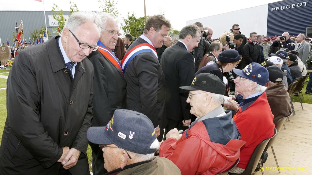
[[[68,30],[74,32],[80,27],[80,25],[83,25],[86,22],[94,23],[97,26],[100,37],[101,20],[95,14],[95,12],[79,11],[71,14],[71,16],[66,21],[64,28],[67,28]]]

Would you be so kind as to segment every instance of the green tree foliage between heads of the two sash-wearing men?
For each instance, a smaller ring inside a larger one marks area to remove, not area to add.
[[[131,15],[129,15],[130,12],[128,12],[128,18],[123,18],[124,24],[121,24],[122,30],[124,30],[124,33],[129,33],[133,37],[138,38],[141,35],[141,32],[143,31],[145,20],[144,17],[137,18],[135,14],[132,12]],[[148,18],[149,16],[147,16]],[[137,29],[141,29],[139,32]]]

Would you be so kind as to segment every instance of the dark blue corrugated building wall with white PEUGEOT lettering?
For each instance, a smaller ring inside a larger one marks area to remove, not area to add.
[[[305,34],[306,27],[312,27],[312,2],[285,0],[269,3],[267,21],[267,36],[280,36],[286,31],[290,35]]]

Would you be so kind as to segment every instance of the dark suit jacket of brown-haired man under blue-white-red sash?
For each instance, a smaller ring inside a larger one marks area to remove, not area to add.
[[[148,42],[139,37],[128,51],[142,43]],[[157,56],[151,52],[138,54],[130,61],[124,78],[127,82],[126,108],[143,113],[153,122],[154,128],[159,125],[162,129],[165,77]]]

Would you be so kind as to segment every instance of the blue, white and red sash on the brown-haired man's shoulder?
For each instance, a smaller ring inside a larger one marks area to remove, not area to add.
[[[124,58],[122,58],[121,65],[122,65],[123,71],[126,72],[126,69],[129,65],[129,63],[131,62],[131,60],[135,56],[137,56],[138,54],[143,53],[143,52],[152,52],[157,57],[156,50],[151,44],[149,44],[149,43],[139,44],[139,45],[135,46],[134,48],[132,48],[131,50],[129,50],[129,52],[126,53]]]

